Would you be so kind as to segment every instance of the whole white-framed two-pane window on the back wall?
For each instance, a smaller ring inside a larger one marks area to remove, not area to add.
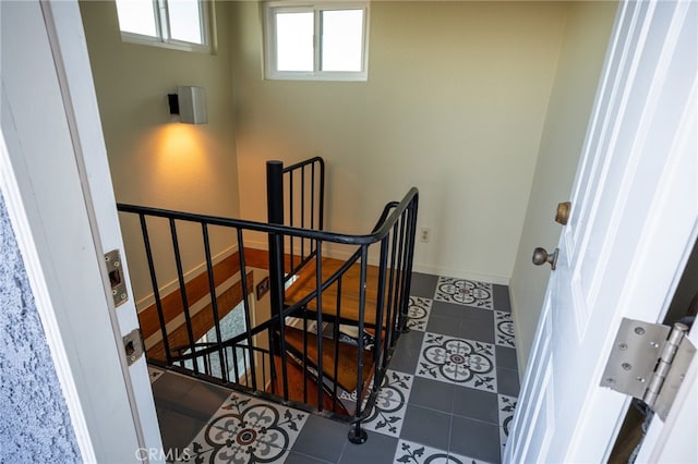
[[[265,5],[266,77],[365,81],[368,2]]]

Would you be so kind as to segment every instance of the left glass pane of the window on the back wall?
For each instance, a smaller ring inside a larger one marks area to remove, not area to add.
[[[277,71],[313,71],[313,13],[276,13]]]

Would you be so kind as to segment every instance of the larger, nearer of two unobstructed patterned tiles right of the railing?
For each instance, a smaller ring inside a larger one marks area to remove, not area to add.
[[[425,332],[416,375],[496,392],[494,345]]]

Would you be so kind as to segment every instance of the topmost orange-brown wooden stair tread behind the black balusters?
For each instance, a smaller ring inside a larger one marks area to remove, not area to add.
[[[322,259],[322,280],[326,281],[334,274],[345,261],[334,258]],[[317,288],[316,285],[317,260],[313,258],[297,273],[298,279],[286,290],[285,304],[291,306],[303,300]],[[359,283],[361,281],[361,265],[354,264],[341,277],[341,295],[339,300],[342,320],[359,320]],[[378,267],[366,266],[366,291],[363,320],[368,325],[376,323]],[[327,316],[337,316],[337,282],[327,288],[323,294],[322,313]],[[308,303],[308,309],[317,310],[315,298]],[[385,316],[384,316],[385,319]]]

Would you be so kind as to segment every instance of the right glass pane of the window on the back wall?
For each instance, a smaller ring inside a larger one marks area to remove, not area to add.
[[[322,12],[322,71],[361,71],[363,10]]]

